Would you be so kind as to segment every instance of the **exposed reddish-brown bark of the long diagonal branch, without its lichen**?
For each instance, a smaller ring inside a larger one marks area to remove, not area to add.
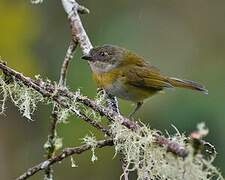
[[[31,78],[25,77],[21,73],[11,69],[10,67],[4,65],[4,63],[1,63],[1,62],[0,62],[0,69],[2,69],[2,71],[5,74],[15,77],[17,80],[22,82],[27,87],[32,87],[34,90],[36,90],[37,92],[42,94],[44,97],[52,99],[54,102],[56,102],[57,104],[61,105],[64,108],[70,109],[68,104],[61,101],[61,99],[65,96],[70,99],[74,99],[74,97],[76,96],[76,100],[78,102],[92,108],[96,112],[99,112],[102,116],[105,116],[108,120],[110,120],[112,122],[115,122],[115,121],[120,122],[122,125],[126,126],[128,129],[131,129],[133,131],[136,131],[137,129],[140,128],[140,125],[138,125],[137,123],[112,111],[112,109],[109,109],[107,107],[99,105],[94,100],[91,100],[86,96],[82,96],[79,94],[75,95],[73,92],[71,92],[67,89],[58,89],[58,91],[57,91],[58,93],[55,94],[55,86],[52,84],[47,84],[47,86],[45,86],[46,83],[41,80],[38,80],[38,82],[35,82]],[[90,119],[84,113],[82,113],[80,111],[79,112],[74,111],[74,110],[73,110],[73,113],[75,115],[77,115],[78,117],[81,117],[83,120],[85,120],[92,126],[101,130],[102,132],[105,132],[108,135],[111,134],[108,129],[104,128],[102,125],[97,123],[95,120]],[[177,142],[174,142],[174,141],[167,139],[160,135],[155,135],[155,139],[156,139],[155,140],[156,144],[166,146],[168,151],[173,152],[177,156],[186,157],[188,155],[187,149],[184,146],[178,144]]]

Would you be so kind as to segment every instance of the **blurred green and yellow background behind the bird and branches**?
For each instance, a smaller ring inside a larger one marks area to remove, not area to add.
[[[214,164],[225,174],[225,1],[224,0],[83,0],[91,10],[82,16],[94,45],[104,43],[127,47],[143,55],[165,74],[202,82],[209,95],[177,89],[146,102],[136,117],[153,128],[173,133],[171,124],[190,133],[199,122],[210,128],[206,140],[218,151]],[[61,1],[45,0],[31,5],[28,0],[0,1],[0,56],[26,75],[41,74],[57,81],[60,65],[70,41],[70,30]],[[96,86],[87,62],[75,55],[69,68],[68,85],[94,97]],[[127,114],[132,105],[120,101]],[[22,118],[9,102],[0,116],[0,179],[10,180],[40,162],[48,134],[51,107],[40,105],[35,121]],[[80,144],[80,138],[96,131],[71,118],[59,125],[64,146]],[[100,138],[101,134],[97,134]],[[113,148],[89,152],[55,166],[56,180],[115,180],[120,163]],[[40,179],[42,173],[31,179]],[[134,179],[134,178],[133,178]]]

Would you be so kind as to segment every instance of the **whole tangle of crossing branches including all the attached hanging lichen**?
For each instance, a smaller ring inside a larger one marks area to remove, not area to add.
[[[102,95],[95,100],[81,95],[80,91],[73,92],[66,87],[66,74],[68,64],[76,45],[79,43],[82,53],[88,54],[92,44],[83,28],[79,13],[89,13],[89,10],[79,5],[75,0],[61,0],[68,14],[71,25],[72,41],[67,50],[61,68],[58,85],[40,77],[32,79],[0,62],[3,75],[0,76],[0,93],[3,95],[1,112],[5,110],[7,98],[19,108],[28,119],[36,108],[38,102],[53,104],[53,121],[49,133],[49,141],[45,144],[48,151],[48,159],[30,169],[17,179],[27,179],[35,173],[44,170],[46,178],[52,178],[51,166],[73,154],[80,154],[87,150],[93,153],[92,160],[96,160],[94,150],[96,147],[115,147],[115,155],[122,154],[123,174],[121,179],[128,180],[129,172],[136,171],[139,180],[145,179],[223,179],[220,172],[212,165],[216,152],[214,147],[202,140],[208,131],[204,126],[199,126],[198,131],[187,137],[178,131],[169,137],[163,136],[158,130],[151,129],[141,122],[131,121],[119,113],[115,97],[107,97],[102,101]],[[42,0],[34,0],[40,3]],[[104,91],[103,91],[104,92]],[[103,93],[105,94],[105,92]],[[110,100],[110,101],[108,101]],[[106,107],[105,104],[110,107]],[[91,126],[109,136],[110,139],[96,141],[94,137],[85,137],[85,144],[65,148],[61,153],[55,152],[61,147],[57,137],[57,123],[63,121],[69,114],[83,119]],[[101,123],[101,117],[105,116],[109,126]],[[211,152],[204,151],[209,146]],[[207,156],[203,155],[204,153]]]

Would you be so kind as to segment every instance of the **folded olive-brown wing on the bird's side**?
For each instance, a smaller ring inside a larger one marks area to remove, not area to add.
[[[163,88],[173,87],[168,78],[163,76],[154,66],[130,66],[127,67],[123,74],[125,82],[128,85],[143,89],[162,90]]]

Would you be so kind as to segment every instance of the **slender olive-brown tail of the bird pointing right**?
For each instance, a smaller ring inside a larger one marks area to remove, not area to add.
[[[205,89],[205,87],[197,82],[185,80],[185,79],[178,79],[178,78],[168,78],[170,84],[174,87],[181,87],[181,88],[187,88],[197,91],[202,91],[205,94],[208,94],[208,90]]]

